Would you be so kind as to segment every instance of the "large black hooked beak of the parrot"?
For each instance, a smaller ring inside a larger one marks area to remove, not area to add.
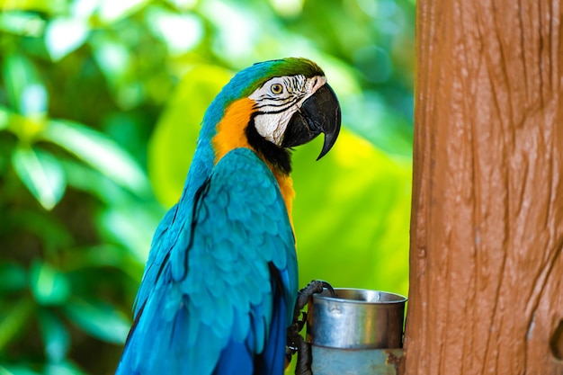
[[[341,117],[340,104],[335,92],[328,84],[322,85],[291,117],[281,147],[303,145],[320,133],[324,133],[325,143],[317,157],[318,160],[335,145],[340,131]]]

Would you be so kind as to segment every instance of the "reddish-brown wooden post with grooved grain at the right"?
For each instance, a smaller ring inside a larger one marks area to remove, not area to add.
[[[419,0],[404,373],[563,374],[557,0]]]

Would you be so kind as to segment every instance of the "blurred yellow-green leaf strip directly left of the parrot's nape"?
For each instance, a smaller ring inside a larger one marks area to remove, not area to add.
[[[148,176],[158,201],[170,206],[182,193],[206,108],[232,74],[198,66],[183,76],[148,143]]]

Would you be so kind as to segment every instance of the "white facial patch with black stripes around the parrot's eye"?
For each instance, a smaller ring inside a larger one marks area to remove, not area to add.
[[[276,76],[267,81],[249,96],[256,103],[255,128],[258,134],[281,146],[291,116],[325,84],[325,76]]]

